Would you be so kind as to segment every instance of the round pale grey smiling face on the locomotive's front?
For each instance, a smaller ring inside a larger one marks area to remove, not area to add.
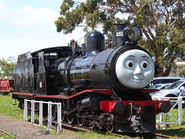
[[[119,82],[128,88],[143,88],[154,77],[154,63],[144,51],[132,49],[121,54],[115,65]]]

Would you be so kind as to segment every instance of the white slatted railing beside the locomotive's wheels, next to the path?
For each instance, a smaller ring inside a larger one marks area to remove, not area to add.
[[[35,100],[24,100],[24,120],[28,121],[28,102],[31,103],[31,123],[34,124],[35,122],[35,104],[38,103],[39,105],[39,126],[43,125],[43,104],[48,105],[48,123],[47,128],[50,129],[52,126],[52,105],[57,106],[57,132],[62,131],[62,120],[61,120],[61,103],[54,103],[54,102],[45,102],[45,101],[35,101]]]

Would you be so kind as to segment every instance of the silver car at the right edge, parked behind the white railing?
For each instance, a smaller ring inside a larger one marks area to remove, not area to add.
[[[157,91],[151,94],[152,99],[161,97],[178,97],[182,96],[185,99],[185,79],[178,80],[168,86],[166,89]]]

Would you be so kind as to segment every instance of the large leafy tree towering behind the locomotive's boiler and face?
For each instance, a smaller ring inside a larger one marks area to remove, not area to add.
[[[113,24],[127,23],[141,27],[142,47],[155,57],[161,76],[169,75],[177,57],[185,55],[185,3],[183,0],[64,0],[57,31],[71,33],[81,23],[94,30],[101,25],[107,36]]]

